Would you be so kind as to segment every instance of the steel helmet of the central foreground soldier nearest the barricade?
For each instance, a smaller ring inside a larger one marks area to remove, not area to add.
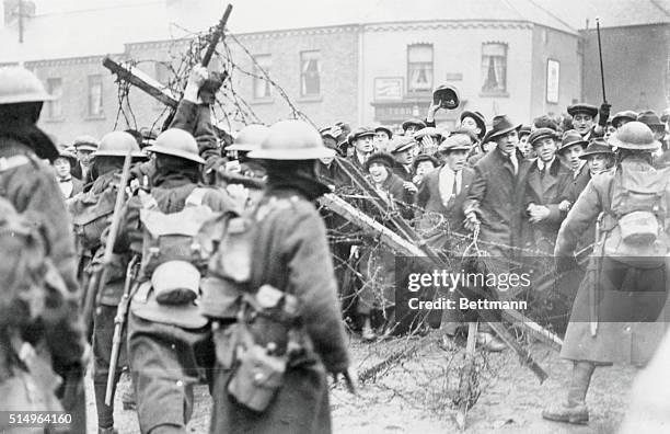
[[[259,149],[249,158],[265,160],[315,160],[335,157],[335,151],[323,145],[321,135],[304,121],[279,121],[269,127]]]

